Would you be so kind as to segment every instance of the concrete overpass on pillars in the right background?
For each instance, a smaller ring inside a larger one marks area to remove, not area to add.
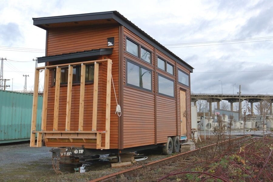
[[[208,93],[192,93],[191,102],[196,106],[196,102],[198,100],[206,100],[209,103],[210,114],[212,116],[212,107],[211,103],[217,102],[217,109],[220,109],[220,101],[227,100],[230,103],[230,109],[233,111],[233,103],[234,102],[243,102],[244,100],[248,100],[250,103],[251,112],[253,112],[253,103],[259,102],[260,104],[264,100],[268,100],[271,102],[270,104],[270,114],[272,115],[272,103],[273,103],[273,95],[254,95],[254,94],[241,94],[240,101],[238,94],[208,94]],[[241,103],[239,103],[241,106]],[[261,113],[261,112],[260,112]]]

